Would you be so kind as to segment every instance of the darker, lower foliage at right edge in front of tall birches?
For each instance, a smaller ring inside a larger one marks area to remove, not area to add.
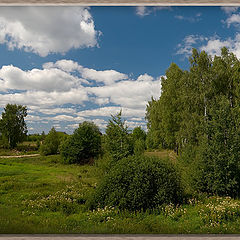
[[[206,135],[198,147],[196,183],[201,191],[239,196],[239,109],[231,108],[225,97],[219,97],[209,118]]]

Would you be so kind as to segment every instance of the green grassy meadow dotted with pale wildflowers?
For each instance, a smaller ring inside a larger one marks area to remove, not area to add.
[[[227,197],[145,213],[89,211],[102,175],[96,164],[63,165],[57,155],[0,159],[0,233],[240,233],[240,201]]]

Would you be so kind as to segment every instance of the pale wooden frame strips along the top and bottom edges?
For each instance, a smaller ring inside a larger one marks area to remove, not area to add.
[[[240,6],[240,0],[0,0],[0,6],[28,6],[28,5],[59,5],[59,6],[67,6],[67,5],[80,5],[80,6]],[[221,237],[226,237],[227,239],[235,240],[240,239],[238,235],[1,235],[0,240],[3,239],[12,239],[12,240],[30,240],[30,239],[38,239],[38,240],[66,240],[66,239],[74,239],[74,240],[83,240],[83,239],[209,239],[211,237],[212,240],[217,240]]]

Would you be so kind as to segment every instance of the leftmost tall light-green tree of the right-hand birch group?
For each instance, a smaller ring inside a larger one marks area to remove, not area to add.
[[[161,97],[147,106],[148,143],[154,148],[178,149],[177,133],[181,123],[181,91],[184,72],[174,63],[161,79]],[[153,139],[150,139],[152,137]]]

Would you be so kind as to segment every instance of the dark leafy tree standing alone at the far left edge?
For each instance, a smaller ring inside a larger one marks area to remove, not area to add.
[[[27,125],[24,118],[27,116],[27,107],[16,104],[7,104],[0,120],[0,132],[7,139],[8,147],[14,148],[24,140],[27,134]]]

